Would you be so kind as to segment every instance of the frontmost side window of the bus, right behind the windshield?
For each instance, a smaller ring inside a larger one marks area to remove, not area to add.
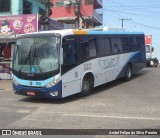
[[[77,53],[73,40],[63,40],[64,65],[73,65],[77,63]]]

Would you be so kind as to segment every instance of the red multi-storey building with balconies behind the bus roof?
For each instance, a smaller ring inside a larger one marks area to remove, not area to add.
[[[52,15],[70,28],[91,28],[102,25],[102,0],[52,0]]]

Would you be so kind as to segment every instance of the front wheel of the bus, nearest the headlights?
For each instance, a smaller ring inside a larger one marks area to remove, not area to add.
[[[87,96],[91,93],[93,89],[93,78],[86,75],[82,81],[82,91],[79,93],[80,96]]]

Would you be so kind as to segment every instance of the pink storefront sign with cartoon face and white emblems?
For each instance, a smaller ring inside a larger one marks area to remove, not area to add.
[[[0,16],[0,37],[38,31],[37,14]]]

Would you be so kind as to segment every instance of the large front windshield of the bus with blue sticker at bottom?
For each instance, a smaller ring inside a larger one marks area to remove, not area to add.
[[[59,68],[60,37],[19,38],[13,54],[13,70],[46,73]]]

